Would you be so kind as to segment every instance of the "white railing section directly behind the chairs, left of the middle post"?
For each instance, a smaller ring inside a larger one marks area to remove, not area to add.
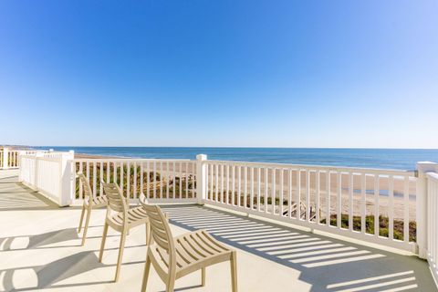
[[[76,159],[75,170],[89,179],[94,195],[101,195],[101,180],[118,183],[126,197],[141,194],[150,202],[196,202],[196,162],[150,159]],[[82,185],[76,184],[76,199],[82,200]]]

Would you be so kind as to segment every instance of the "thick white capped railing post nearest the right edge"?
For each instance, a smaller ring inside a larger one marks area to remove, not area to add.
[[[420,258],[427,257],[427,172],[437,172],[438,164],[433,162],[417,162],[417,208],[416,208],[416,220],[417,220],[417,245],[418,256]]]

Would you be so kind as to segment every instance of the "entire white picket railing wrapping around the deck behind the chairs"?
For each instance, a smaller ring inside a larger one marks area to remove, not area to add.
[[[438,278],[438,164],[417,172],[262,162],[74,159],[72,152],[18,155],[20,179],[60,205],[84,198],[83,172],[95,196],[101,181],[153,203],[205,203],[411,251]]]

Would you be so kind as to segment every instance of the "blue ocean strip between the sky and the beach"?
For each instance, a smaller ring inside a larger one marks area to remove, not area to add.
[[[335,148],[202,148],[202,147],[77,147],[44,146],[38,149],[73,150],[89,155],[131,158],[195,159],[206,154],[211,160],[276,162],[349,166],[412,171],[416,162],[438,162],[438,149],[335,149]]]

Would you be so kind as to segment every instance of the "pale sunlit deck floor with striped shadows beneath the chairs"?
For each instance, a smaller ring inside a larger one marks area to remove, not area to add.
[[[131,231],[120,281],[113,283],[120,236],[98,253],[105,210],[91,216],[85,246],[80,209],[57,208],[0,171],[0,291],[139,291],[145,230]],[[165,207],[173,235],[204,228],[237,249],[239,291],[437,291],[425,261],[198,205]],[[148,291],[165,289],[153,268]],[[185,276],[175,291],[230,291],[228,263]]]

